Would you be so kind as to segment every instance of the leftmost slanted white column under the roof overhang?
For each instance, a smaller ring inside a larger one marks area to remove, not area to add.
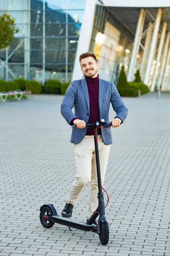
[[[134,66],[134,62],[135,62],[136,51],[137,51],[137,47],[138,47],[138,40],[139,40],[139,36],[140,36],[140,32],[141,32],[143,16],[144,16],[144,9],[141,9],[140,15],[138,18],[137,27],[136,27],[135,38],[134,38],[134,42],[133,42],[132,55],[130,58],[130,64],[129,64],[128,73],[127,73],[127,81],[131,81],[132,73],[134,71],[133,66]]]

